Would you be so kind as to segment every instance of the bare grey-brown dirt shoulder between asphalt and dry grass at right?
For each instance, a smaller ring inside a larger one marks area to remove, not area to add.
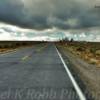
[[[82,59],[76,57],[75,55],[71,54],[69,51],[64,50],[63,48],[59,47],[60,52],[62,53],[66,63],[71,62],[72,70],[77,73],[77,76],[80,77],[81,81],[83,82],[84,91],[89,91],[95,97],[95,100],[98,100],[99,92],[100,92],[100,70],[97,68],[90,66]],[[69,62],[68,62],[69,59]],[[81,84],[81,83],[79,83]],[[90,95],[90,94],[89,94]]]

